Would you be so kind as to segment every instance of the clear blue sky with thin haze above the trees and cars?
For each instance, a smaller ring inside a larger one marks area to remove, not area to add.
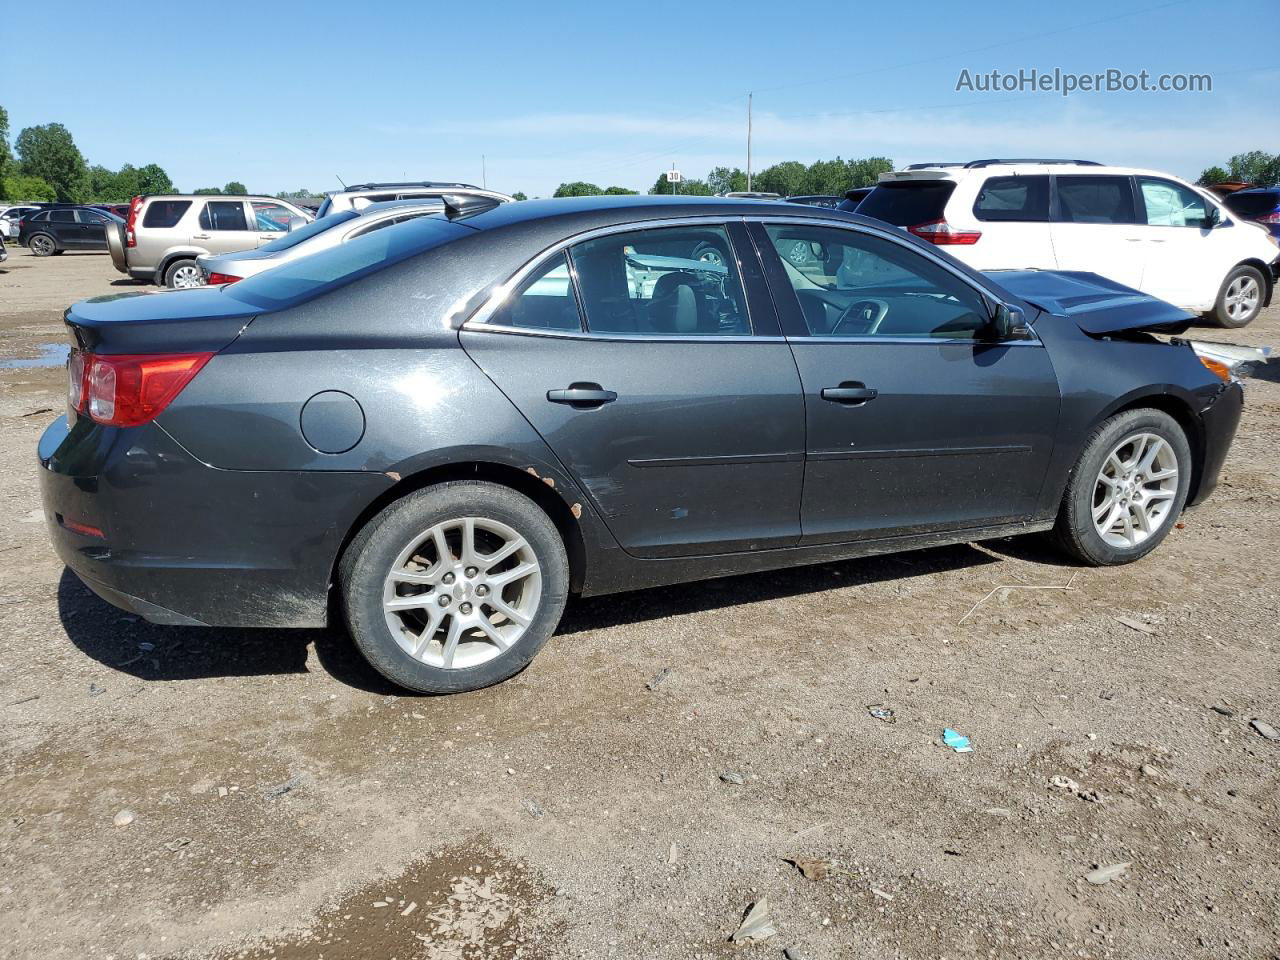
[[[10,4],[0,105],[183,189],[410,177],[547,195],[754,163],[1280,152],[1276,0]],[[1251,26],[1253,24],[1253,26]],[[74,29],[68,29],[74,26]],[[44,40],[74,35],[74,40]],[[51,50],[65,49],[65,55]],[[1211,93],[957,92],[961,69],[1208,73]],[[38,78],[38,79],[37,79]]]

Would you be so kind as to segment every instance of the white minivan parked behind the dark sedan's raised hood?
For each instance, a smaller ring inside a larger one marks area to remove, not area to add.
[[[1276,239],[1211,193],[1088,160],[913,164],[881,174],[858,212],[978,270],[1101,274],[1221,326],[1253,320],[1280,273]]]

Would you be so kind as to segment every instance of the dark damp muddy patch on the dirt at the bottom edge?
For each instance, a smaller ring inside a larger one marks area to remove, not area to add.
[[[311,929],[244,960],[550,960],[563,929],[539,906],[550,891],[485,844],[452,847],[320,910]],[[227,956],[215,952],[214,956]]]

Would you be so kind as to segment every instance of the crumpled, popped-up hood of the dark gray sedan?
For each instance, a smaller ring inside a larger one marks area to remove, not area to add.
[[[1162,300],[1097,274],[1074,270],[989,270],[995,283],[1047,314],[1068,316],[1088,334],[1181,333],[1196,317]]]

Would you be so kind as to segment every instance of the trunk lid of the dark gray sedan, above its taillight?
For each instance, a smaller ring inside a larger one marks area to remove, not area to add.
[[[82,300],[64,320],[77,346],[95,353],[197,353],[220,351],[260,312],[220,288],[196,287]]]

